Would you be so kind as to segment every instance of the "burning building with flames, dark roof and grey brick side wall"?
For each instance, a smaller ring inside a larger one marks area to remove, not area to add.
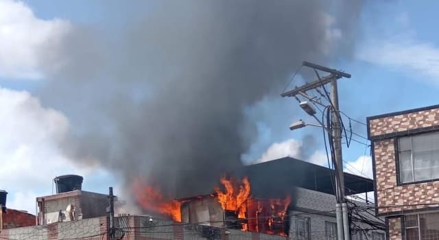
[[[139,182],[135,192],[147,213],[183,223],[297,239],[332,239],[336,228],[331,171],[281,158],[245,167],[243,178],[221,178],[210,194],[165,201],[158,189],[141,187]],[[344,174],[347,195],[373,191],[372,180]]]

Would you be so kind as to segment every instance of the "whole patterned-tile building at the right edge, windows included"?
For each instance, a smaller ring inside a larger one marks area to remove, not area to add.
[[[368,117],[388,239],[439,239],[439,105]]]

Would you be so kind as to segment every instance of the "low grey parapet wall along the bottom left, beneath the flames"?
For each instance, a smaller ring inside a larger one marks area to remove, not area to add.
[[[241,230],[226,230],[212,226],[198,224],[179,224],[170,220],[152,219],[147,216],[121,216],[115,217],[116,239],[123,240],[285,240],[285,237],[276,235],[263,235],[255,232]],[[110,223],[108,217],[94,217],[74,221],[62,221],[53,224],[39,225],[25,228],[12,228],[2,230],[0,239],[15,240],[62,240],[84,239],[103,240],[110,239]]]

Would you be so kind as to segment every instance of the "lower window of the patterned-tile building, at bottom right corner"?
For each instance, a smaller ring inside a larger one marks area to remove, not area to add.
[[[426,213],[405,216],[405,239],[439,239],[439,213]]]

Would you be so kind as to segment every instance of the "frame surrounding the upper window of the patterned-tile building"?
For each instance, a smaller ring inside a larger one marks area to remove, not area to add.
[[[412,160],[411,160],[411,164],[412,164],[412,179],[413,181],[410,182],[402,182],[401,181],[401,169],[400,169],[400,164],[401,164],[401,159],[399,157],[399,139],[403,139],[403,138],[407,138],[410,137],[410,144],[412,145],[412,137],[414,136],[419,136],[419,135],[423,135],[423,134],[439,134],[439,130],[434,130],[434,131],[425,131],[425,132],[417,132],[416,134],[407,134],[407,135],[403,135],[403,136],[396,136],[393,139],[393,145],[394,145],[394,158],[395,158],[395,167],[396,167],[396,186],[403,186],[403,185],[410,185],[410,184],[418,184],[418,183],[423,183],[423,182],[436,182],[439,181],[439,178],[431,178],[431,179],[427,179],[427,180],[418,180],[415,181],[414,180],[414,163],[413,163],[413,149],[410,149],[410,152],[412,152]],[[412,147],[411,147],[412,148]]]

